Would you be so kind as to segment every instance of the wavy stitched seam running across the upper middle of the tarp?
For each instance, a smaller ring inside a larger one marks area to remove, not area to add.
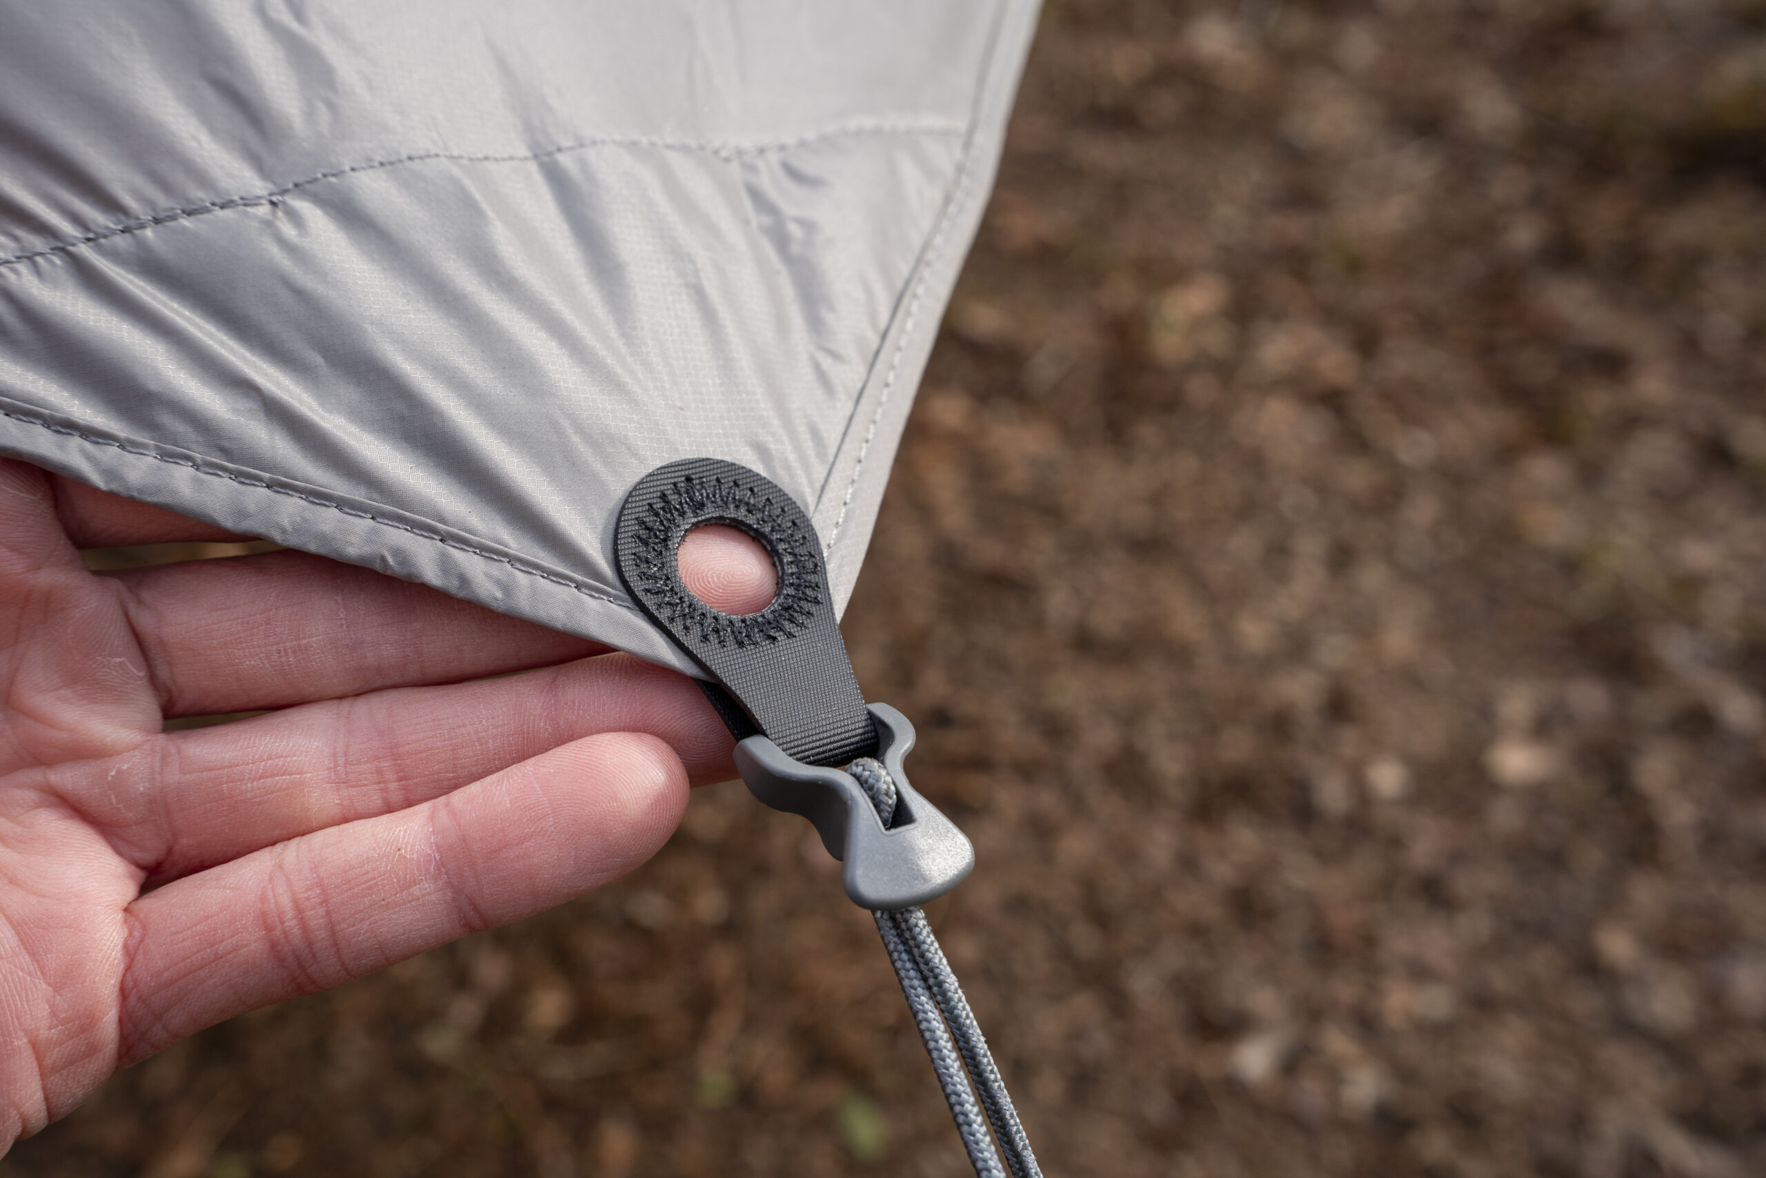
[[[304,180],[291,180],[281,187],[274,187],[267,193],[230,196],[226,200],[201,201],[196,205],[185,205],[184,208],[171,208],[166,212],[148,214],[143,217],[134,217],[120,224],[106,226],[102,230],[92,230],[90,233],[81,233],[53,245],[41,245],[37,249],[28,249],[18,254],[0,258],[0,267],[12,267],[21,261],[30,261],[32,258],[46,258],[49,254],[67,253],[71,249],[79,249],[81,245],[92,245],[94,242],[109,240],[113,237],[124,237],[125,233],[140,233],[141,230],[152,230],[161,224],[173,221],[189,221],[192,217],[201,217],[212,212],[226,212],[228,208],[256,208],[263,205],[275,205],[281,198],[288,196],[297,189],[309,187],[313,184],[323,184],[327,180],[341,180],[344,177],[357,175],[360,171],[380,171],[383,168],[397,168],[399,164],[419,164],[431,162],[438,159],[468,162],[468,164],[526,164],[539,162],[542,159],[553,159],[556,155],[569,155],[572,152],[585,152],[593,147],[653,147],[666,152],[703,152],[715,155],[722,161],[736,161],[752,155],[770,155],[775,152],[789,152],[798,147],[809,147],[811,143],[819,143],[823,140],[841,140],[857,136],[888,136],[888,134],[929,134],[929,136],[959,136],[964,134],[966,127],[962,124],[952,124],[947,120],[922,120],[922,122],[853,122],[842,124],[839,127],[823,127],[821,131],[809,131],[789,140],[759,140],[752,143],[710,143],[701,140],[664,140],[659,136],[590,136],[586,140],[576,140],[572,143],[560,143],[556,147],[546,147],[537,152],[523,152],[512,155],[482,155],[470,152],[413,152],[410,155],[396,155],[392,159],[376,159],[366,164],[350,164],[348,168],[332,168],[328,171],[318,171]]]

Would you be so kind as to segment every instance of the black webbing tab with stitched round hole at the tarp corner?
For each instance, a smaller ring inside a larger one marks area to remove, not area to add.
[[[758,539],[779,570],[774,602],[754,615],[706,606],[680,579],[676,551],[699,525]],[[717,678],[713,703],[743,738],[759,731],[804,765],[846,765],[878,747],[846,657],[821,544],[796,500],[765,475],[715,457],[659,466],[632,487],[615,530],[620,579],[638,606]],[[752,728],[743,729],[738,721]]]

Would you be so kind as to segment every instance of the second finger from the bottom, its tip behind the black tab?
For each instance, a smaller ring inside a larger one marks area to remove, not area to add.
[[[735,742],[692,680],[620,653],[166,733],[122,763],[58,766],[51,782],[157,883],[615,731],[660,738],[694,782],[735,777]]]

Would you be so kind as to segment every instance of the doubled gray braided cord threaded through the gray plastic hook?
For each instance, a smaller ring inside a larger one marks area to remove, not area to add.
[[[888,770],[881,761],[860,758],[848,765],[846,772],[864,788],[887,827],[895,816],[895,782]],[[994,1153],[998,1141],[1012,1178],[1042,1178],[1037,1155],[1030,1152],[1030,1139],[1017,1120],[1017,1109],[1012,1107],[1005,1081],[1000,1079],[992,1053],[987,1051],[982,1028],[962,996],[962,987],[957,985],[957,975],[950,970],[945,952],[938,947],[925,913],[918,908],[902,908],[876,910],[871,915],[878,922],[883,948],[895,966],[901,993],[913,1010],[913,1021],[920,1028],[920,1038],[925,1040],[925,1053],[932,1058],[932,1070],[938,1072],[938,1084],[945,1090],[950,1116],[957,1121],[962,1148],[968,1150],[975,1173],[982,1178],[1005,1178],[1000,1155]],[[970,1083],[980,1093],[980,1109]],[[982,1113],[987,1116],[985,1125]],[[992,1129],[992,1139],[987,1136],[987,1127]]]

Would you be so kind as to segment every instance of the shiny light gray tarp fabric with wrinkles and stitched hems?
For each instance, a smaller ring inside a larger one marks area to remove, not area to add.
[[[759,470],[844,606],[1030,0],[0,7],[0,452],[692,669],[611,567]]]

